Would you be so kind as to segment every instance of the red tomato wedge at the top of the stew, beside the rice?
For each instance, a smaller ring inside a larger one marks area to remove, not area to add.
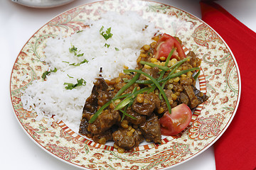
[[[154,49],[154,57],[159,60],[160,57],[168,57],[171,50],[175,48],[174,54],[171,58],[176,58],[177,60],[182,60],[186,57],[185,52],[181,44],[171,35],[164,33],[161,35],[161,38],[156,43],[156,47]]]

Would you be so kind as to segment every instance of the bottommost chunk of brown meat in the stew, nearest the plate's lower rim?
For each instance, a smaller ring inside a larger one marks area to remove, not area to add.
[[[132,132],[134,131],[134,132]],[[144,140],[142,132],[139,130],[119,128],[117,131],[112,133],[114,144],[124,149],[132,149],[138,147],[139,143]]]

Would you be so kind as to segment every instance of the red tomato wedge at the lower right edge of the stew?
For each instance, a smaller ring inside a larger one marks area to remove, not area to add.
[[[184,130],[191,122],[191,109],[182,103],[175,108],[171,108],[171,114],[167,111],[163,117],[159,118],[162,135],[177,135]]]

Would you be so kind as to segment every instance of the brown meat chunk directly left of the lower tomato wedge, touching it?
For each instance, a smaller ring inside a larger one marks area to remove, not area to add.
[[[161,143],[161,126],[156,115],[148,118],[139,128],[147,142]]]

